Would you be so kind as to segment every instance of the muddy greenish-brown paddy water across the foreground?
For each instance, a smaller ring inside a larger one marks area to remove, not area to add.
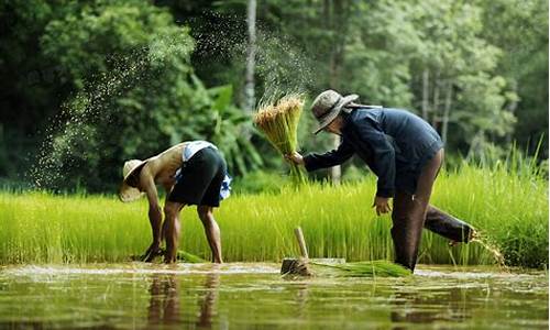
[[[0,268],[0,329],[548,329],[548,274],[420,266],[285,279],[276,264]]]

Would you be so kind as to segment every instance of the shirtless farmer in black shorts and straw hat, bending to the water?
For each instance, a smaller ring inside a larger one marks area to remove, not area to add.
[[[185,206],[196,205],[205,227],[212,262],[222,263],[220,229],[213,218],[213,208],[230,194],[230,178],[226,161],[218,148],[206,141],[179,143],[145,161],[124,163],[123,182],[119,197],[132,201],[145,195],[148,200],[148,219],[153,243],[144,255],[146,262],[162,254],[161,242],[166,241],[164,261],[176,261],[179,239],[179,212]],[[163,212],[156,185],[166,190]]]

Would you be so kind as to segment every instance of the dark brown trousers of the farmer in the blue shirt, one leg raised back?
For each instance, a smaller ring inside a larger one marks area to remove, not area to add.
[[[417,262],[424,228],[457,242],[468,242],[473,232],[468,223],[429,205],[442,162],[443,150],[440,150],[422,168],[415,195],[397,190],[394,197],[392,239],[395,262],[411,271]]]

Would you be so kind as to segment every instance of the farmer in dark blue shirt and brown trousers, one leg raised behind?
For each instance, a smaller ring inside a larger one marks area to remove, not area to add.
[[[392,211],[392,239],[396,263],[415,270],[422,228],[455,242],[469,242],[474,230],[429,205],[433,182],[443,162],[443,143],[436,130],[419,117],[397,109],[356,105],[356,95],[321,92],[311,106],[323,130],[342,136],[337,150],[286,158],[307,170],[342,164],[358,154],[378,177],[373,207]]]

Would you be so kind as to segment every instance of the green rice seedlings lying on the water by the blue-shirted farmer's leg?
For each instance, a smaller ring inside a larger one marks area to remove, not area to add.
[[[395,264],[385,260],[366,261],[344,264],[323,264],[312,263],[316,266],[321,266],[336,271],[337,276],[350,277],[402,277],[408,276],[411,272],[399,264]]]

